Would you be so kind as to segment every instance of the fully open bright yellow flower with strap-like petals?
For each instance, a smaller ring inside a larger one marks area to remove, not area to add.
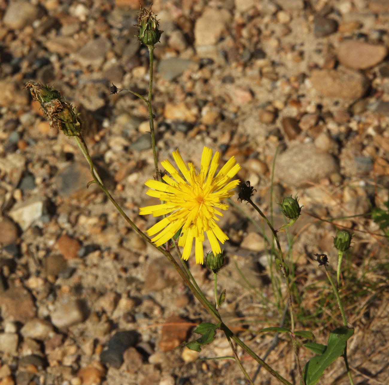
[[[223,244],[227,235],[217,226],[219,216],[223,214],[219,210],[228,210],[228,205],[222,203],[234,195],[231,191],[239,184],[239,180],[231,180],[240,170],[239,164],[231,157],[216,174],[219,166],[220,153],[216,152],[212,158],[212,150],[204,147],[201,157],[201,168],[198,173],[193,163],[185,166],[178,150],[173,152],[173,158],[184,176],[166,159],[161,164],[171,177],[163,176],[163,182],[147,180],[145,185],[150,187],[147,195],[159,198],[164,203],[160,205],[147,206],[139,209],[139,214],[152,214],[154,217],[171,213],[166,218],[154,224],[148,235],[156,235],[152,238],[157,246],[173,238],[175,233],[182,228],[178,241],[179,246],[184,247],[182,259],[187,260],[192,250],[193,239],[195,239],[196,263],[203,263],[203,242],[205,233],[211,244],[214,255],[221,253],[219,241]],[[208,174],[208,175],[207,175]],[[215,176],[216,174],[216,176]],[[174,179],[173,179],[174,178]],[[219,240],[219,241],[218,241]]]

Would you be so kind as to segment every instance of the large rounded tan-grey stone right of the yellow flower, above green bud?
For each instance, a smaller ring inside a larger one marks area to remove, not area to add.
[[[286,185],[302,187],[338,171],[335,159],[313,143],[288,148],[277,157],[275,177]]]

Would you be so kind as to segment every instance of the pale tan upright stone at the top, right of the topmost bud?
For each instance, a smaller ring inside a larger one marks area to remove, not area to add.
[[[226,9],[207,8],[196,19],[195,45],[212,46],[216,44],[219,38],[227,33],[227,26],[230,21],[231,14]]]

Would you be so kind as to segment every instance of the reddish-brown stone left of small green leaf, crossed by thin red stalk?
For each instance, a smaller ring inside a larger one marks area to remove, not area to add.
[[[161,351],[169,351],[176,348],[180,343],[186,340],[186,336],[191,329],[191,325],[187,324],[187,320],[179,316],[170,316],[165,321],[161,331],[161,339],[159,340],[159,349]],[[184,323],[184,325],[180,325]]]

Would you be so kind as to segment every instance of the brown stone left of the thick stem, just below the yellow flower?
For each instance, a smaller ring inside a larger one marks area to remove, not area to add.
[[[168,286],[175,286],[181,282],[177,271],[165,258],[160,257],[151,261],[145,276],[144,291],[161,291]]]

